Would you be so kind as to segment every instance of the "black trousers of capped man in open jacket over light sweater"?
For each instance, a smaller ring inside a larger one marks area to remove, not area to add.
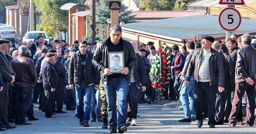
[[[217,85],[210,86],[210,82],[195,82],[195,109],[198,120],[203,120],[203,102],[206,101],[208,106],[208,125],[215,125],[216,113],[216,92]],[[205,99],[204,99],[205,98]]]

